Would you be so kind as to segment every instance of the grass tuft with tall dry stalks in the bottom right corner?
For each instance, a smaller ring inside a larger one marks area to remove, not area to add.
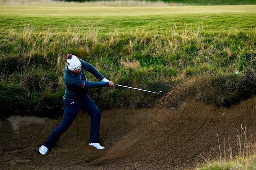
[[[215,160],[207,160],[199,164],[196,170],[253,170],[256,168],[255,144],[246,134],[246,127],[237,130],[237,147],[232,148],[228,138],[227,142],[219,143],[219,157]],[[226,148],[225,148],[226,145]]]

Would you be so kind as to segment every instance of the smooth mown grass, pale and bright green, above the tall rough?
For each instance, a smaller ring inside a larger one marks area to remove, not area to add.
[[[23,29],[28,24],[36,32],[50,28],[60,32],[98,30],[112,34],[116,30],[164,33],[200,29],[201,32],[255,30],[255,5],[177,6],[177,7],[21,7],[0,6],[0,29]],[[69,11],[70,12],[66,12]],[[104,36],[105,36],[104,35]]]

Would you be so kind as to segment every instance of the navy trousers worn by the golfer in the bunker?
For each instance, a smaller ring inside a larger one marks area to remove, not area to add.
[[[59,140],[62,133],[64,133],[77,116],[79,110],[84,110],[91,116],[90,125],[90,143],[98,143],[100,123],[101,123],[101,111],[95,105],[94,101],[86,95],[84,99],[81,100],[68,100],[64,99],[64,114],[61,123],[52,131],[48,140],[44,143],[47,148],[52,148],[54,144]]]

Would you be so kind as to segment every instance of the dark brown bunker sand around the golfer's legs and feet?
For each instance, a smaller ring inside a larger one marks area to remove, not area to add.
[[[256,97],[230,108],[192,101],[168,109],[103,110],[103,151],[88,145],[90,117],[83,112],[47,155],[38,155],[37,147],[61,117],[9,120],[0,120],[3,169],[184,169],[204,161],[200,154],[206,159],[219,155],[217,133],[222,156],[230,148],[233,156],[239,152],[238,139],[256,141]]]

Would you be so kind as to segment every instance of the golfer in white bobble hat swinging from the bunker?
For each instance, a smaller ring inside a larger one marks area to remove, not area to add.
[[[88,96],[88,88],[112,87],[114,84],[104,78],[103,75],[88,62],[85,62],[72,54],[68,54],[67,58],[64,73],[66,90],[65,95],[63,96],[65,107],[63,118],[61,123],[52,131],[48,140],[39,147],[39,153],[42,155],[46,154],[48,149],[52,148],[59,140],[61,134],[68,130],[80,109],[91,116],[89,144],[97,149],[104,148],[99,144],[101,112],[94,101]],[[87,81],[83,69],[92,73],[102,82]]]

